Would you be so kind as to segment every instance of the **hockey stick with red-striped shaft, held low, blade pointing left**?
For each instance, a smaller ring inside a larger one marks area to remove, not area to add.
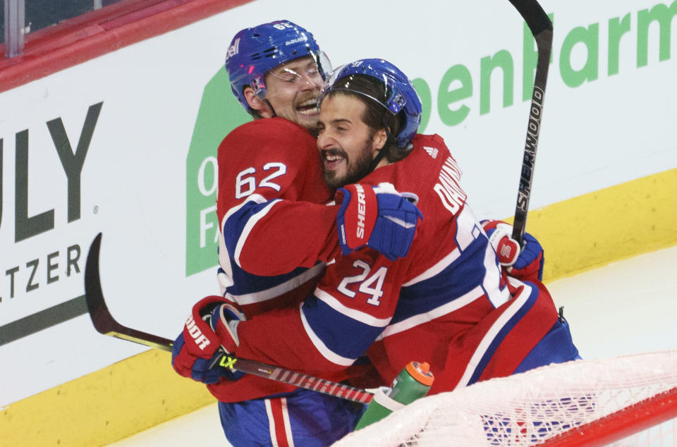
[[[126,341],[133,341],[142,345],[150,346],[154,349],[166,350],[171,352],[173,341],[169,338],[162,338],[130,329],[116,320],[109,312],[104,300],[104,293],[101,289],[101,279],[99,277],[99,250],[101,248],[102,233],[99,233],[87,254],[87,263],[85,264],[85,301],[87,310],[90,312],[94,329],[104,335],[121,338]],[[329,394],[339,398],[353,400],[353,402],[370,403],[372,393],[360,388],[354,388],[344,384],[338,384],[333,381],[319,379],[318,377],[300,374],[281,367],[266,365],[264,363],[247,360],[234,355],[225,354],[217,364],[219,367],[229,368],[233,371],[241,371],[247,374],[264,377],[266,379],[280,381],[284,384],[298,386],[319,393]]]

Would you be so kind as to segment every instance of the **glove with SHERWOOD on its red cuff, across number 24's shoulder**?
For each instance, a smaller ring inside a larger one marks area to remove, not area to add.
[[[398,192],[391,183],[338,188],[336,203],[341,207],[336,224],[343,255],[367,245],[391,261],[405,257],[418,219],[423,219],[417,201],[415,194]]]

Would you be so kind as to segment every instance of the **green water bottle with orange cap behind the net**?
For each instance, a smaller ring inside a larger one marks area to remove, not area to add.
[[[391,412],[412,403],[417,398],[422,398],[428,393],[433,379],[427,362],[409,362],[390,387],[382,386],[374,393],[374,398],[355,426],[355,430],[382,420]]]

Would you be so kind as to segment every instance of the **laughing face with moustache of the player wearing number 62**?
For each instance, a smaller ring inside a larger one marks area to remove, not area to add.
[[[273,68],[266,74],[264,82],[266,98],[277,116],[315,130],[322,76],[312,57],[295,59]]]

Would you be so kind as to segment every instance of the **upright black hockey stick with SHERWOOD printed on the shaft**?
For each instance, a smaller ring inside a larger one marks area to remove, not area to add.
[[[548,79],[550,63],[550,51],[552,49],[552,22],[537,0],[510,0],[515,6],[531,30],[536,47],[538,60],[534,79],[534,91],[531,97],[531,109],[529,112],[529,124],[527,125],[527,140],[524,145],[524,157],[522,159],[522,172],[520,175],[520,188],[517,194],[515,207],[515,221],[513,223],[513,239],[520,247],[527,226],[527,211],[531,195],[531,182],[534,176],[534,164],[536,161],[536,148],[538,146],[538,134],[541,128],[543,114],[543,99],[545,96],[545,84]]]

